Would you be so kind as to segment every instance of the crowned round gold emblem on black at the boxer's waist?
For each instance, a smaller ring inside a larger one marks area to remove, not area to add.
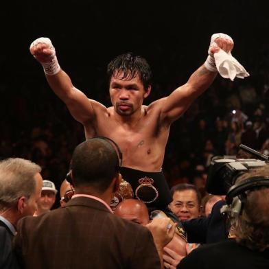
[[[154,180],[152,178],[148,178],[148,176],[144,176],[143,178],[140,178],[138,182],[139,186],[135,190],[135,197],[145,204],[154,202],[159,196],[159,192],[156,187],[152,185]]]

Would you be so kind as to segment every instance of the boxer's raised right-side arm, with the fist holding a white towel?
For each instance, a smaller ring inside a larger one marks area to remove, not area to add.
[[[217,75],[213,54],[220,49],[231,51],[233,40],[225,34],[214,34],[211,38],[209,56],[204,65],[191,75],[186,84],[180,86],[169,96],[159,100],[161,121],[171,124],[178,119],[192,102],[211,85]]]

